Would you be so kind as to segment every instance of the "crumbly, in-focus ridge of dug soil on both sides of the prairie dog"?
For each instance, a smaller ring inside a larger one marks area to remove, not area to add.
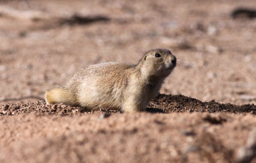
[[[106,110],[100,111],[106,113],[117,113],[120,111]],[[215,101],[202,102],[197,99],[186,96],[172,96],[159,94],[154,101],[148,104],[147,110],[151,113],[172,113],[172,112],[226,112],[226,113],[256,113],[254,104],[244,104],[241,106],[234,104],[220,104]],[[17,103],[17,104],[1,104],[1,115],[19,115],[20,113],[47,113],[53,115],[86,115],[95,111],[87,110],[86,108],[72,107],[66,104],[51,104],[47,105],[44,101],[36,103]]]

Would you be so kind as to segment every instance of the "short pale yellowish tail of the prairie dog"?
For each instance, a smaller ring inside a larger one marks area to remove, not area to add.
[[[70,90],[56,87],[45,92],[45,101],[47,104],[52,103],[65,103],[70,105],[76,105],[76,97]]]

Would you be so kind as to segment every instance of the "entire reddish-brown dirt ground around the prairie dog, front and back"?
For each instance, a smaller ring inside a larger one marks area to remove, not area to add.
[[[0,1],[0,162],[256,162],[256,16],[232,15],[253,7]],[[153,48],[178,64],[145,112],[42,100],[83,66]]]

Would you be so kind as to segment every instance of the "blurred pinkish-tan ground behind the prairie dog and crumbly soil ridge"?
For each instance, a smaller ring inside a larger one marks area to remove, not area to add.
[[[153,48],[178,60],[161,93],[256,103],[255,9],[255,0],[2,0],[0,103],[44,97],[83,66],[136,64]]]

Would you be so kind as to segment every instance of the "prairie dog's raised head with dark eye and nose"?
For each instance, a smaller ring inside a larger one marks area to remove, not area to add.
[[[140,60],[141,73],[144,76],[165,78],[172,73],[176,66],[176,57],[170,50],[156,49],[147,52]]]

